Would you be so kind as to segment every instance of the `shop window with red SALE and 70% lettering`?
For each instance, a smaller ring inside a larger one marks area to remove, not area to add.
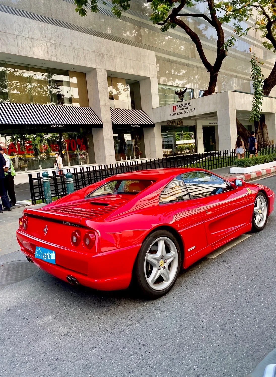
[[[89,164],[85,132],[0,135],[0,146],[16,171],[51,169],[55,152],[62,151],[65,167]]]

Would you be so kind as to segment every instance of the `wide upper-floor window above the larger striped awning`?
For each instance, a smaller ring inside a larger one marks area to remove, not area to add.
[[[89,106],[85,73],[0,61],[0,102]]]

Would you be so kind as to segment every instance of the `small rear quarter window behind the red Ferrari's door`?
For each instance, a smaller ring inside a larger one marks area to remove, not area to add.
[[[172,203],[189,199],[189,193],[180,175],[172,179],[160,194],[160,203]]]

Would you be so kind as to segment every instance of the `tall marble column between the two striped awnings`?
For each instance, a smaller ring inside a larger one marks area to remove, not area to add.
[[[104,128],[93,128],[95,160],[98,165],[114,164],[115,151],[108,97],[107,71],[93,69],[86,73],[89,106],[104,124]]]

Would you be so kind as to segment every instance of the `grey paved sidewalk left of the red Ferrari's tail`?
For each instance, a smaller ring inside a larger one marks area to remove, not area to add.
[[[41,208],[44,205],[38,204],[32,206],[32,208]],[[0,256],[20,249],[16,239],[16,231],[18,219],[22,216],[24,208],[26,207],[12,207],[12,211],[0,213]]]

